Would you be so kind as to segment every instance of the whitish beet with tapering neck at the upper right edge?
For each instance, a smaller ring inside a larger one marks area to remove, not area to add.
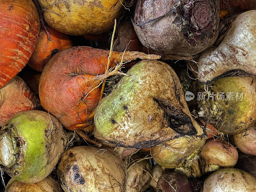
[[[204,51],[198,61],[198,80],[204,84],[227,76],[256,76],[256,10],[231,23],[222,42]]]

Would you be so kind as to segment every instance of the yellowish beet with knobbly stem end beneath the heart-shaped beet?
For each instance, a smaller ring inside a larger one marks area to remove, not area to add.
[[[197,137],[180,137],[151,148],[151,155],[159,165],[166,168],[180,168],[187,176],[201,176],[198,153],[205,139]]]

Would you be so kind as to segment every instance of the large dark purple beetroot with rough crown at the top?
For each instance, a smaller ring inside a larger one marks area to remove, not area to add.
[[[215,42],[219,17],[219,0],[138,0],[133,26],[148,49],[191,56]]]

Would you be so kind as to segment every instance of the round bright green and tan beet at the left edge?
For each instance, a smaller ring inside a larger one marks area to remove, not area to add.
[[[0,165],[12,178],[36,183],[46,178],[67,147],[60,123],[44,111],[23,111],[0,131]]]

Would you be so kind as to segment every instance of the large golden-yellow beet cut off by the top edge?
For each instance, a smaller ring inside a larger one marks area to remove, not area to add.
[[[109,31],[124,4],[124,0],[38,1],[48,25],[68,35],[95,35]]]

